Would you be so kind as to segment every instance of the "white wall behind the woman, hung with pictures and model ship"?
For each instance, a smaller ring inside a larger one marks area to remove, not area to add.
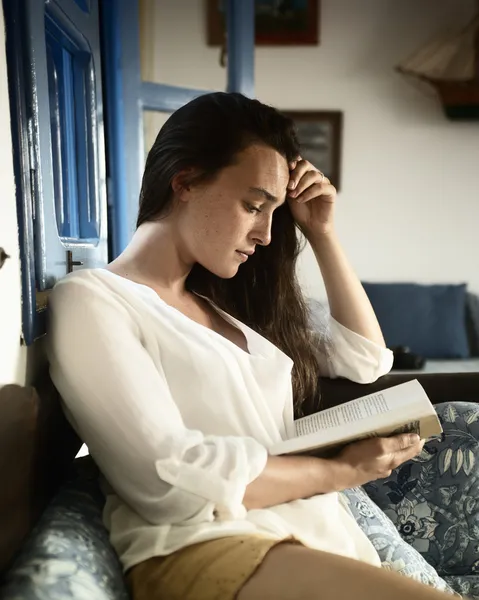
[[[148,0],[146,0],[148,2]],[[153,0],[149,0],[152,2]],[[468,282],[479,292],[479,123],[451,123],[394,65],[473,0],[322,0],[321,44],[259,47],[256,93],[282,109],[344,111],[338,231],[367,280]],[[154,79],[224,89],[204,3],[157,0]],[[300,278],[322,298],[312,253]]]

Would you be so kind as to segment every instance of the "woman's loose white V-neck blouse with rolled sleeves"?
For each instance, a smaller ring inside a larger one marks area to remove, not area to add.
[[[244,352],[104,269],[61,280],[49,307],[51,376],[105,478],[104,520],[125,570],[248,533],[379,565],[336,493],[242,504],[268,448],[293,432],[292,361],[273,344],[220,311],[244,333]],[[329,326],[322,375],[368,383],[391,369],[390,350],[333,318]]]

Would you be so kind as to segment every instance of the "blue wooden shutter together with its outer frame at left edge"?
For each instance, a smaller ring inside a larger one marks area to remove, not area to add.
[[[45,333],[48,290],[107,262],[97,0],[3,0],[23,339]]]

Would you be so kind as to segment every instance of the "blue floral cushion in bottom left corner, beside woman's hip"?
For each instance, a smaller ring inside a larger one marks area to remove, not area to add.
[[[122,568],[102,522],[98,471],[75,461],[0,590],[2,600],[128,600]]]

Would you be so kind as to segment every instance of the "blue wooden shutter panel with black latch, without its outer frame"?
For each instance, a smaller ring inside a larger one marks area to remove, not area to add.
[[[98,3],[27,0],[26,25],[35,278],[43,291],[72,261],[84,267],[107,262]]]

